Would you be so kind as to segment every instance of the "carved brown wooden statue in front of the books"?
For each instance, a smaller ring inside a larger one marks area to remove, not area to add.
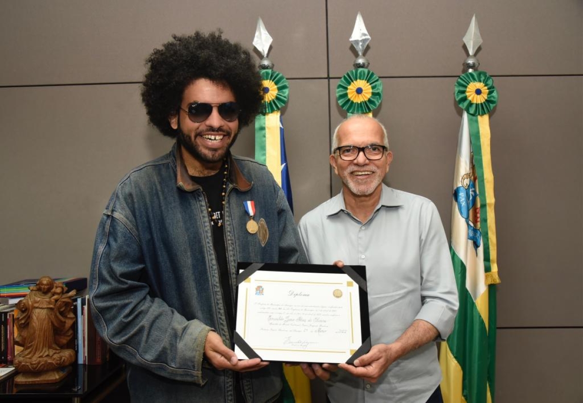
[[[29,294],[16,304],[18,335],[23,350],[14,358],[17,384],[54,383],[71,372],[75,350],[65,348],[73,337],[73,301],[76,290],[66,292],[61,282],[41,277]]]

